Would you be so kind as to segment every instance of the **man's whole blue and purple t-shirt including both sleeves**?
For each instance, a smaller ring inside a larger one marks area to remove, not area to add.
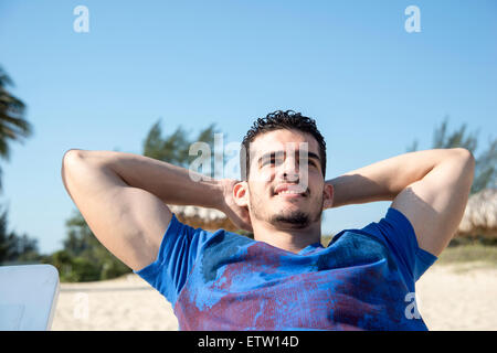
[[[426,330],[412,298],[435,260],[392,207],[298,254],[173,215],[156,261],[136,272],[171,302],[180,330]]]

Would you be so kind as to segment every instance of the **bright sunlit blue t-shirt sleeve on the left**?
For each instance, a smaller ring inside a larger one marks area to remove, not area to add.
[[[182,224],[172,214],[163,235],[157,259],[134,271],[162,293],[173,306],[187,282],[202,245],[212,233]]]

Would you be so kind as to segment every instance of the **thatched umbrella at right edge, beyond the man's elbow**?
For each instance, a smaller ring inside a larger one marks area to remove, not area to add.
[[[485,189],[472,195],[456,236],[497,237],[497,189]]]

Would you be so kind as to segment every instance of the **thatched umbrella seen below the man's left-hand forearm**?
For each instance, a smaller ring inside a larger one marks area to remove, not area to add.
[[[176,214],[178,221],[193,228],[200,227],[211,232],[221,228],[229,232],[239,229],[223,212],[214,208],[179,205],[169,205],[169,208]]]

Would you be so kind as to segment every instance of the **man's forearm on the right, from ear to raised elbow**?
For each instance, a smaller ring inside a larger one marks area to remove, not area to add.
[[[423,179],[461,149],[409,152],[350,171],[326,183],[334,186],[332,207],[392,201],[408,185]]]

